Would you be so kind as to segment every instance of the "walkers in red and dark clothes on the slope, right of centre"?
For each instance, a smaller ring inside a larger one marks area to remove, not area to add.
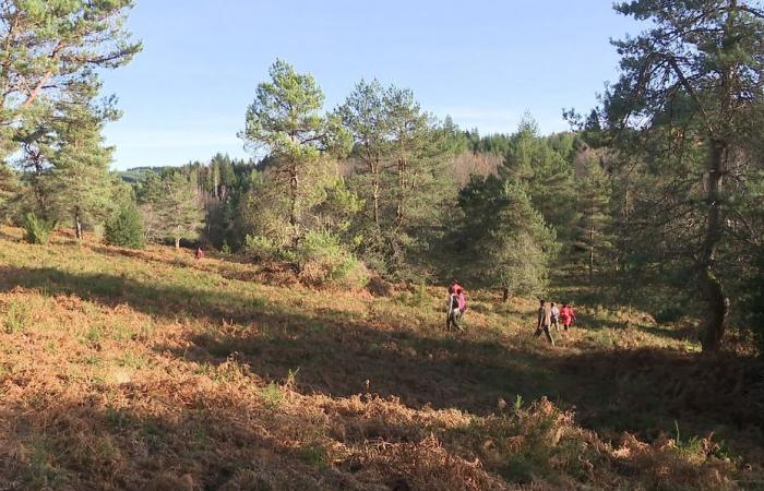
[[[445,316],[445,328],[447,331],[451,331],[452,327],[464,331],[461,321],[465,310],[467,310],[467,299],[464,288],[454,279],[449,286],[449,304]],[[549,343],[554,346],[552,327],[559,333],[560,324],[562,324],[564,331],[568,331],[575,324],[573,306],[563,303],[562,308],[560,308],[554,302],[549,303],[546,300],[540,300],[535,335],[538,337],[541,333],[546,334]]]

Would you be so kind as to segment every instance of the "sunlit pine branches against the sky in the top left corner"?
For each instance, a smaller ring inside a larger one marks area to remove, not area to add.
[[[56,101],[83,84],[97,86],[97,71],[127,64],[141,50],[124,28],[131,7],[131,0],[0,2],[0,160],[19,149],[34,154],[28,130]]]

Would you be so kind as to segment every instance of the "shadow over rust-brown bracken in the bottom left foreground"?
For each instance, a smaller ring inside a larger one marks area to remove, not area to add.
[[[141,388],[123,384],[112,392],[130,396]],[[157,412],[41,394],[31,403],[35,410],[3,407],[0,488],[367,489],[344,463],[329,460],[326,436],[309,414],[177,382],[152,394],[179,405]]]

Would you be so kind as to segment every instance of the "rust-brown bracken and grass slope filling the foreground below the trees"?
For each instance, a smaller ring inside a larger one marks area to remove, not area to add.
[[[699,359],[685,330],[636,312],[582,309],[551,349],[522,299],[474,292],[467,333],[451,334],[437,288],[319,292],[169,249],[20,235],[0,238],[0,489],[735,489],[761,477],[761,369]]]

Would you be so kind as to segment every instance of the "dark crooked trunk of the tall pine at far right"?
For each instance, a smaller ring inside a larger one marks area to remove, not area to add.
[[[724,219],[721,216],[721,183],[724,178],[724,158],[727,152],[726,142],[713,140],[708,158],[708,191],[706,200],[706,231],[700,256],[700,284],[706,301],[706,316],[703,325],[701,344],[704,351],[717,351],[725,333],[727,318],[727,298],[721,282],[714,273],[716,248],[721,240]]]

